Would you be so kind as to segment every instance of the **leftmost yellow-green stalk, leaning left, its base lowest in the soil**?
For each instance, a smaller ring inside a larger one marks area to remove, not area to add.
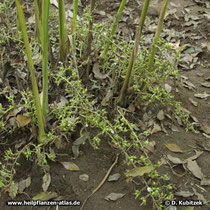
[[[41,110],[41,104],[40,104],[40,98],[39,98],[39,91],[38,91],[36,78],[34,75],[34,64],[33,64],[33,60],[32,60],[32,53],[31,53],[28,35],[27,35],[27,31],[26,31],[25,17],[23,14],[23,7],[21,4],[21,1],[15,0],[15,2],[17,5],[19,22],[21,25],[22,33],[23,33],[23,40],[24,40],[24,44],[26,47],[26,54],[27,54],[27,58],[28,58],[28,67],[29,67],[30,76],[31,76],[31,83],[32,83],[32,89],[33,89],[33,95],[34,95],[34,101],[35,101],[36,113],[37,113],[37,119],[38,119],[38,126],[39,126],[39,139],[38,140],[39,140],[39,143],[43,143],[44,137],[45,137],[45,130],[44,130],[44,123],[43,123],[43,118],[42,118],[42,110]]]

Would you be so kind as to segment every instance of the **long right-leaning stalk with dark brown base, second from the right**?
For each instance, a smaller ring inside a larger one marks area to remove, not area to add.
[[[139,25],[136,29],[133,50],[131,52],[131,56],[130,56],[130,60],[129,60],[129,64],[128,64],[128,69],[127,69],[127,72],[126,72],[126,77],[125,77],[122,89],[120,91],[120,96],[119,96],[119,100],[118,100],[118,103],[119,103],[120,106],[125,105],[125,96],[126,96],[126,92],[128,90],[129,83],[130,83],[130,80],[131,80],[133,67],[134,67],[135,62],[136,62],[136,57],[137,57],[138,48],[139,48],[139,40],[140,40],[141,35],[142,35],[142,29],[143,29],[144,21],[146,19],[147,11],[148,11],[148,8],[149,8],[149,3],[150,3],[150,0],[145,0],[144,1],[144,6],[143,6],[143,10],[142,10],[141,17],[140,17],[140,20],[139,20]]]

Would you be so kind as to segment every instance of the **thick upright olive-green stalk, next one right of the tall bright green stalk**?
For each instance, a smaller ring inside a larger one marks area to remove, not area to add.
[[[66,24],[65,24],[65,8],[64,0],[58,1],[59,10],[59,35],[60,35],[60,59],[66,61]]]

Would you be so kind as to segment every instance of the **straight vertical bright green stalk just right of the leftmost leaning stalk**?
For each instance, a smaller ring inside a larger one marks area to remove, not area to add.
[[[42,100],[42,113],[44,121],[47,118],[48,108],[48,19],[49,19],[50,1],[42,1],[42,80],[43,80],[43,100]]]

